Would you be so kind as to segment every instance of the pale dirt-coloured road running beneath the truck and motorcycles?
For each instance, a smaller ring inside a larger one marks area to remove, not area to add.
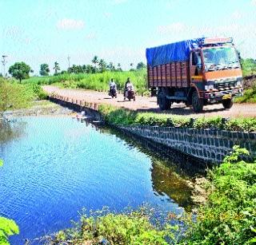
[[[137,96],[136,101],[123,101],[122,94],[118,94],[117,99],[112,99],[107,93],[82,90],[82,89],[59,89],[51,85],[43,86],[47,93],[57,93],[63,97],[70,97],[74,100],[83,100],[100,104],[115,105],[122,108],[140,111],[153,111],[155,113],[168,113],[172,115],[187,115],[190,117],[256,117],[256,104],[234,104],[231,109],[223,109],[220,105],[206,105],[202,113],[195,114],[191,108],[187,108],[183,103],[174,103],[171,109],[161,112],[156,103],[156,97]]]

